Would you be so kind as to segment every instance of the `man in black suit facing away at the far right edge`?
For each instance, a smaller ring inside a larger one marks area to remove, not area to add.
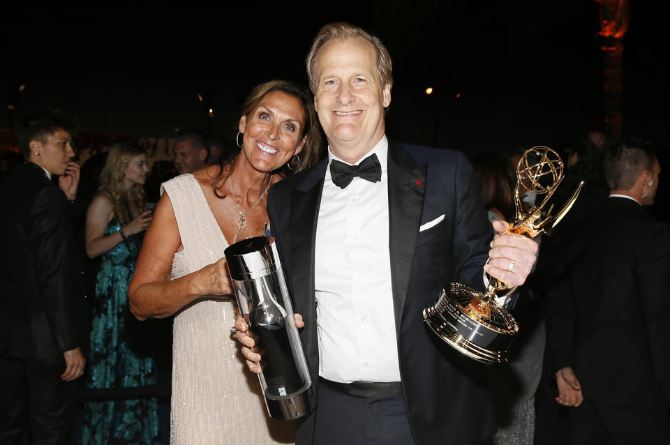
[[[642,142],[605,154],[610,194],[562,246],[548,293],[549,358],[574,444],[667,444],[670,227],[653,204],[660,165]]]

